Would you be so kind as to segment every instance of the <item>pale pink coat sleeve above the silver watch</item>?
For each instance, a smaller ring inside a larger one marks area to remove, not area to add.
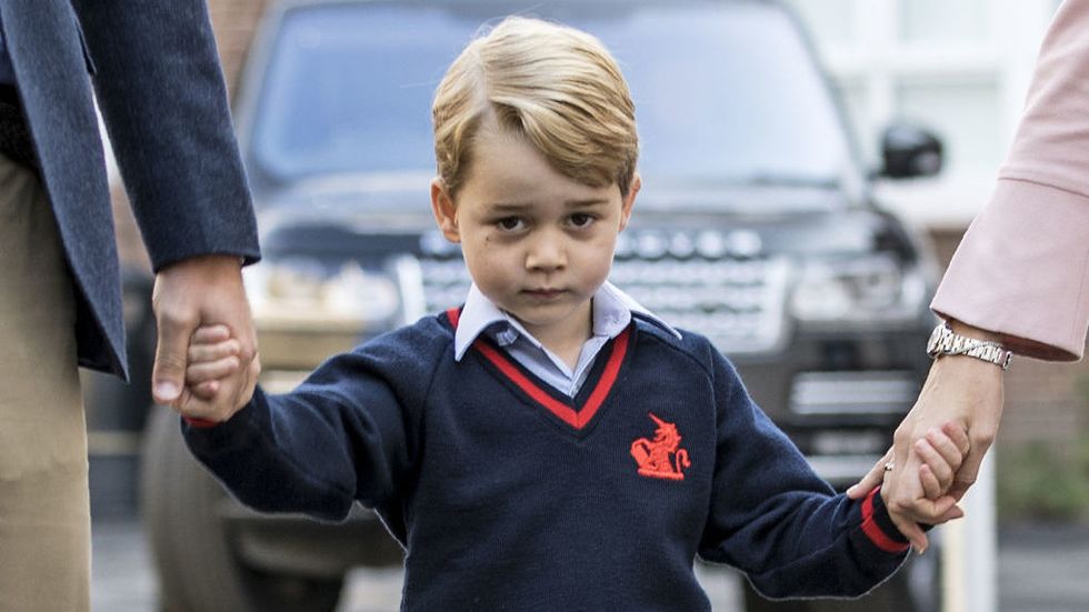
[[[1089,0],[1067,0],[987,208],[931,308],[1002,333],[1016,352],[1081,358],[1089,328]]]

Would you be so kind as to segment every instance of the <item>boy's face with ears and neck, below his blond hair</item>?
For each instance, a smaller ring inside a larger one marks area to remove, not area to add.
[[[488,299],[541,342],[582,341],[638,190],[638,175],[626,197],[571,180],[523,137],[484,126],[457,201],[436,179],[431,203]]]

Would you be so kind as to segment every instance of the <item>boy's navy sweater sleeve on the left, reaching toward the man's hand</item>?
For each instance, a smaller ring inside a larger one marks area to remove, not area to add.
[[[357,500],[382,506],[413,470],[434,348],[388,334],[330,359],[290,393],[259,388],[227,422],[183,423],[186,442],[254,510],[342,520]]]

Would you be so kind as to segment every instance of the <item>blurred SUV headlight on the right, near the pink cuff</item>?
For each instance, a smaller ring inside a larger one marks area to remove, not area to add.
[[[889,255],[803,264],[791,312],[801,323],[905,321],[918,317],[926,280]]]

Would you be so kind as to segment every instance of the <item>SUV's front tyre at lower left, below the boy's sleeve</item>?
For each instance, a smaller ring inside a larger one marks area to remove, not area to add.
[[[224,518],[236,503],[192,458],[178,415],[154,408],[143,437],[141,503],[164,612],[320,612],[336,608],[342,580],[247,568]]]

